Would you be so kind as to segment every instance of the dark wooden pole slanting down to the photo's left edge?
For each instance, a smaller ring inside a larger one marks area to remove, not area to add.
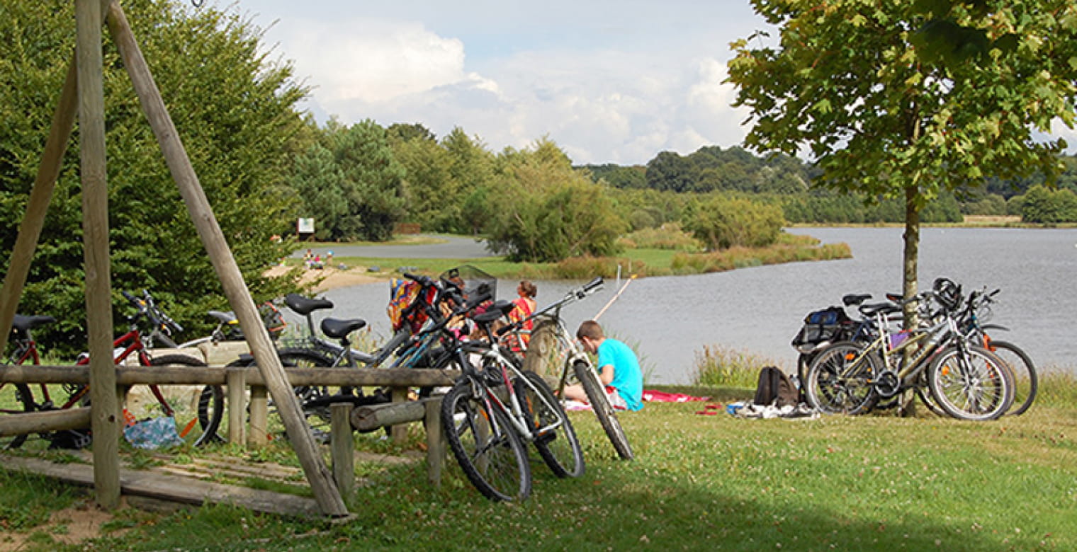
[[[0,289],[0,351],[6,351],[8,336],[11,335],[11,324],[18,310],[18,299],[23,296],[26,277],[30,271],[30,260],[41,238],[41,227],[45,223],[45,212],[56,188],[60,167],[64,165],[64,152],[71,138],[74,116],[79,112],[78,70],[74,59],[68,67],[67,79],[64,81],[64,91],[53,114],[53,126],[45,141],[45,151],[38,167],[38,178],[33,181],[30,199],[26,203],[26,215],[18,227],[15,247],[11,252],[11,263],[3,279],[3,289]]]

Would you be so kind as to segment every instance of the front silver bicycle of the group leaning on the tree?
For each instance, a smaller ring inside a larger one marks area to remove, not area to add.
[[[957,331],[952,313],[961,302],[960,288],[924,292],[901,303],[932,297],[942,305],[939,315],[907,331],[886,327],[886,316],[900,311],[898,303],[863,307],[876,317],[879,336],[870,343],[842,341],[821,351],[805,382],[809,405],[826,413],[862,414],[880,398],[926,385],[932,400],[953,417],[994,420],[1005,413],[1013,400],[1012,373]]]

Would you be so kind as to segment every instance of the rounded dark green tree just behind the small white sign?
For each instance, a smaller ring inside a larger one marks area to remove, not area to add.
[[[405,169],[386,130],[366,119],[331,121],[319,143],[295,161],[293,185],[322,241],[384,241],[404,214]]]

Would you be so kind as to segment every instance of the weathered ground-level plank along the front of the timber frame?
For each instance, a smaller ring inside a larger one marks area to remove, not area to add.
[[[94,484],[94,467],[86,464],[54,464],[41,458],[6,455],[0,455],[0,458],[3,459],[0,463],[3,469],[31,471],[81,485]],[[318,503],[310,498],[144,470],[121,470],[120,487],[125,495],[195,506],[206,503],[230,504],[281,515],[319,514]]]

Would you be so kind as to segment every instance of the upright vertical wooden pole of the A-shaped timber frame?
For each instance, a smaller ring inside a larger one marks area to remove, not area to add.
[[[120,506],[121,424],[116,372],[112,364],[109,188],[104,167],[104,69],[99,0],[76,0],[75,20],[94,487],[97,503],[114,509]]]

